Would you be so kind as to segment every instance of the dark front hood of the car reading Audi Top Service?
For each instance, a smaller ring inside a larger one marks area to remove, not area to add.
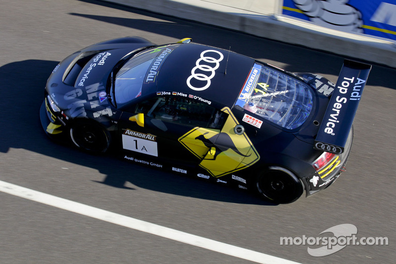
[[[46,90],[67,116],[100,117],[113,114],[106,93],[110,73],[124,57],[148,44],[122,44],[115,49],[114,46],[87,47],[65,58],[52,71]]]

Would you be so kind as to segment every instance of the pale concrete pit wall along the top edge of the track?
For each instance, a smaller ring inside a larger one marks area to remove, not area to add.
[[[282,0],[103,0],[396,67],[396,44],[279,15]],[[233,7],[234,6],[234,7]],[[252,11],[255,10],[255,11]]]

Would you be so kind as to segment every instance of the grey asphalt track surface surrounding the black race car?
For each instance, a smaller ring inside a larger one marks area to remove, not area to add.
[[[395,263],[396,71],[373,65],[354,121],[347,171],[330,188],[271,205],[112,156],[52,143],[39,108],[46,80],[70,53],[99,41],[141,36],[157,43],[191,37],[290,71],[335,82],[343,58],[132,8],[79,0],[0,0],[0,181],[298,263]],[[0,192],[0,263],[252,263]],[[343,223],[357,237],[312,257],[280,237],[317,237]]]

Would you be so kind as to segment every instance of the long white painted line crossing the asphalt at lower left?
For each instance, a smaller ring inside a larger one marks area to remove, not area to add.
[[[229,256],[245,259],[248,261],[262,264],[298,264],[297,262],[273,257],[252,250],[236,247],[215,240],[192,235],[175,229],[163,227],[157,224],[149,223],[122,214],[105,211],[99,208],[83,205],[53,195],[38,192],[32,189],[24,188],[18,185],[0,181],[0,191],[25,198],[31,201],[53,206],[67,211],[76,212],[82,215],[90,216],[106,222],[118,224],[135,230],[143,231],[149,234],[169,238],[189,245],[208,249],[211,251],[223,253]]]

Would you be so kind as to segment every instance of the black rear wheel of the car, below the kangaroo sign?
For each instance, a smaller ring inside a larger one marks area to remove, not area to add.
[[[304,185],[297,176],[282,167],[269,167],[256,180],[260,196],[276,204],[289,204],[296,201],[304,191]]]

